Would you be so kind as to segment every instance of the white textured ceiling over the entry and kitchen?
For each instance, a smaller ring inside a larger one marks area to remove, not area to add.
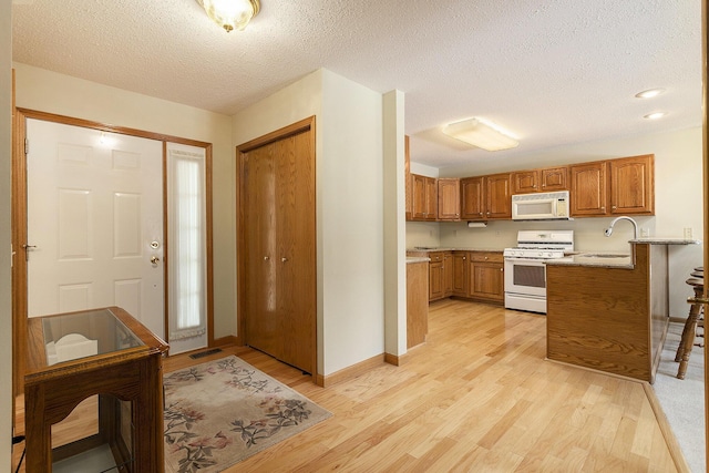
[[[319,68],[399,89],[412,160],[435,167],[701,125],[701,0],[261,0],[228,34],[195,0],[14,0],[12,16],[14,61],[229,115]],[[634,97],[650,88],[667,92]],[[440,133],[470,116],[520,146]]]

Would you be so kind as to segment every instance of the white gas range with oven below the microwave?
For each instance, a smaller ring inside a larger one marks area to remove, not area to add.
[[[546,313],[546,260],[574,250],[574,230],[520,230],[505,248],[505,308]]]

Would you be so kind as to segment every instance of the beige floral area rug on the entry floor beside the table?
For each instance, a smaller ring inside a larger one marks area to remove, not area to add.
[[[332,415],[230,356],[168,373],[165,471],[219,472]]]

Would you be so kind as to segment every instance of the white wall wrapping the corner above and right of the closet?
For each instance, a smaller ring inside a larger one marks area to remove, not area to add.
[[[382,97],[316,71],[234,116],[239,145],[316,115],[318,371],[383,352]]]

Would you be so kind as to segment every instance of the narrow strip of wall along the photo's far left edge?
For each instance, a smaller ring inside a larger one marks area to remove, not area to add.
[[[12,241],[11,216],[11,130],[12,107],[12,2],[0,2],[0,359],[12,359],[12,276],[10,245]],[[12,363],[0,366],[0,471],[11,471],[12,434]],[[21,445],[20,445],[21,448]],[[4,466],[2,466],[4,465]]]

